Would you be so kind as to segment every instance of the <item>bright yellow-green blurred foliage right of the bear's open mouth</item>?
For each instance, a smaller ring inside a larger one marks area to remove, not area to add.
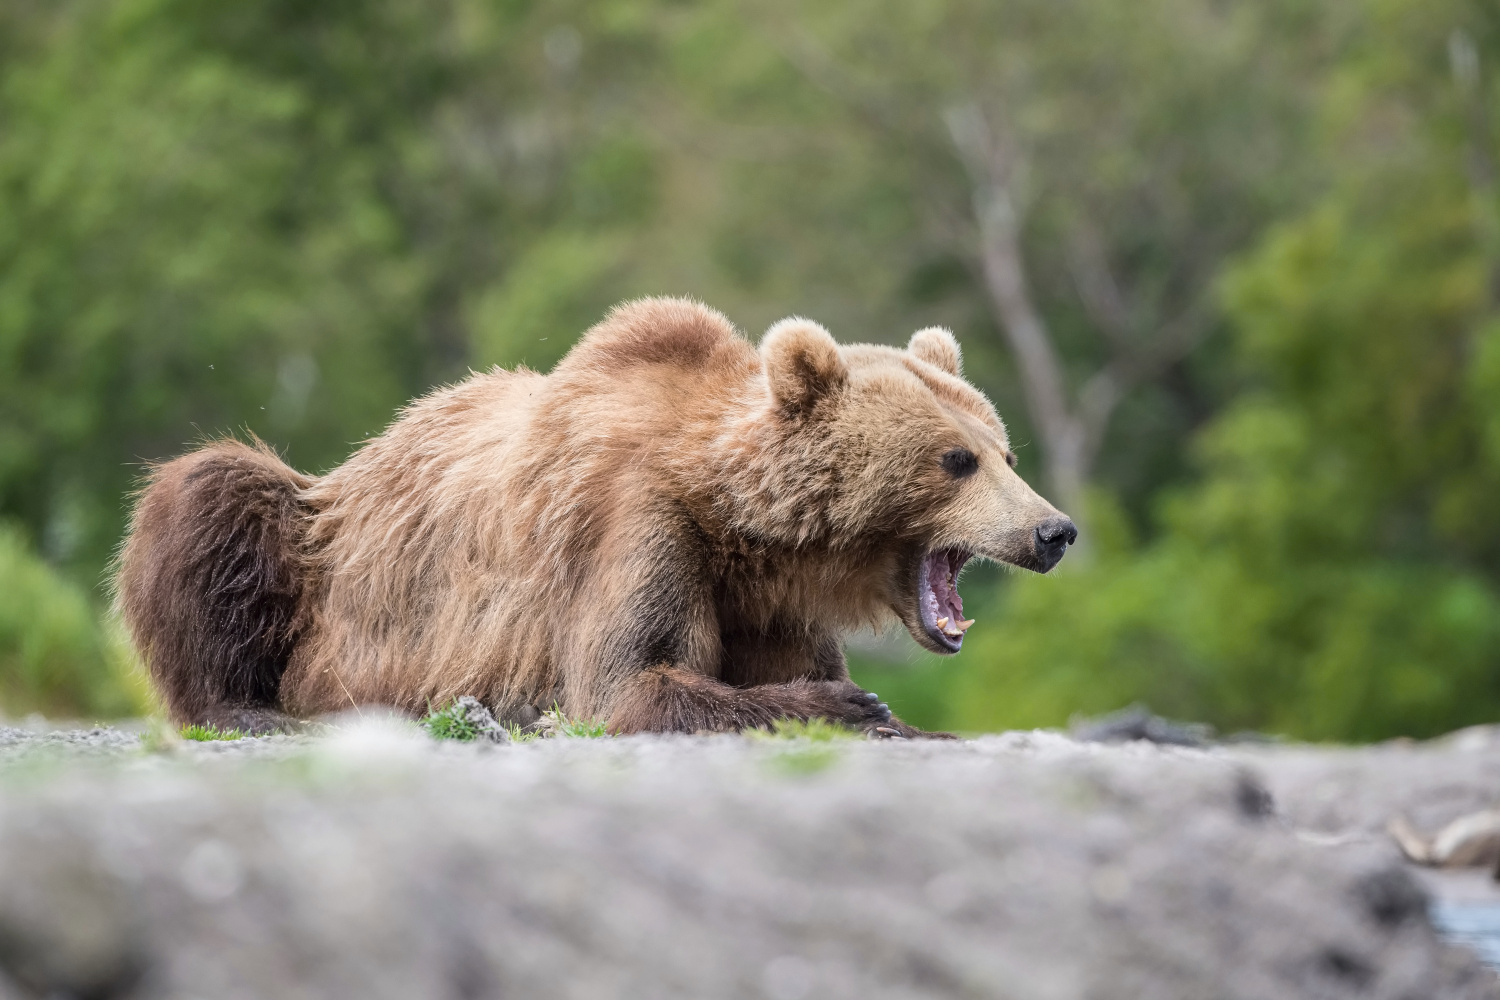
[[[1372,739],[1500,714],[1497,205],[1479,127],[1500,22],[1456,1],[1364,15],[1324,90],[1332,189],[1226,277],[1246,387],[1198,439],[1202,481],[1162,501],[1158,540],[1114,531],[1086,571],[1017,582],[968,654],[982,666],[956,691],[958,724],[1146,699],[1227,729]]]

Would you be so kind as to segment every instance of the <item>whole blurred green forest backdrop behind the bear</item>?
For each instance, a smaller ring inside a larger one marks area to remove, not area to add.
[[[144,460],[339,463],[615,301],[944,324],[1086,544],[975,570],[910,721],[1500,717],[1485,0],[6,0],[0,712],[148,708]]]

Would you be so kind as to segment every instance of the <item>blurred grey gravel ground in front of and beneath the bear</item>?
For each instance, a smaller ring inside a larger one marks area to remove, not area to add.
[[[1500,802],[1492,730],[153,745],[0,729],[0,1000],[1500,997],[1430,916],[1494,889],[1382,834]]]

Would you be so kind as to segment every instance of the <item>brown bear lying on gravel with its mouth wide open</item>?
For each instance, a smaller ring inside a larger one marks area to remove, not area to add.
[[[250,730],[472,694],[616,733],[822,717],[915,735],[842,637],[957,652],[972,556],[1046,573],[1077,532],[1014,472],[958,345],[759,351],[681,298],[616,307],[550,375],[414,402],[322,477],[219,441],[154,468],[118,606],[172,717]]]

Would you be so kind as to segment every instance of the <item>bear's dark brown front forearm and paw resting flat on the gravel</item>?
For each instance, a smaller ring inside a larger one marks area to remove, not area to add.
[[[732,733],[765,729],[782,718],[826,718],[861,730],[922,735],[852,681],[788,681],[736,688],[694,670],[657,666],[621,690],[609,717],[612,733]],[[884,735],[884,733],[882,733]]]

